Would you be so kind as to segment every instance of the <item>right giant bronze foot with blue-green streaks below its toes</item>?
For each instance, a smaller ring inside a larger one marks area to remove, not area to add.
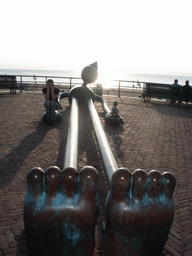
[[[171,173],[117,170],[106,199],[107,256],[160,256],[174,216]]]

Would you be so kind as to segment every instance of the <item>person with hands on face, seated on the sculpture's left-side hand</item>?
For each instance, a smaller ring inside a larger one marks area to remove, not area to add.
[[[56,121],[61,120],[61,114],[56,111],[59,108],[58,95],[59,89],[54,86],[52,79],[47,81],[46,87],[42,89],[45,97],[45,113],[43,115],[43,121],[47,124],[54,124]]]

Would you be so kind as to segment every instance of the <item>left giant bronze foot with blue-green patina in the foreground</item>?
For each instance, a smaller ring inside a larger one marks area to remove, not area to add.
[[[24,204],[25,232],[31,256],[88,256],[95,246],[95,225],[99,214],[96,188],[98,173],[84,167],[63,172],[50,167],[44,173],[28,173]]]

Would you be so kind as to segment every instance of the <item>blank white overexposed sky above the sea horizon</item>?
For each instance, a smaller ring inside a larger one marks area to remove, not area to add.
[[[192,74],[190,0],[0,0],[0,68]]]

